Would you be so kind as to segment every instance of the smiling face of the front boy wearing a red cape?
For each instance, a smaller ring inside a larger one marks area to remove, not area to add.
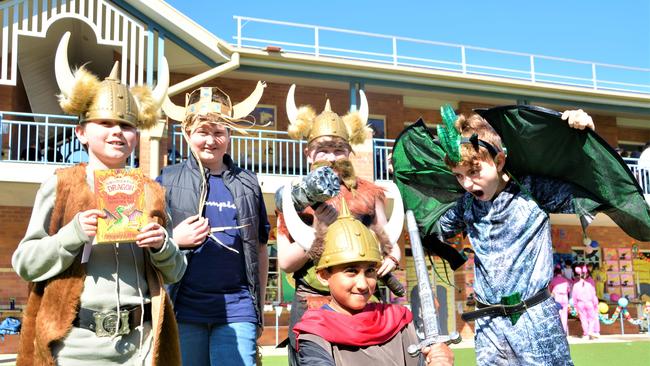
[[[318,271],[319,281],[330,289],[330,306],[348,315],[363,310],[377,287],[376,267],[373,262],[356,262]]]

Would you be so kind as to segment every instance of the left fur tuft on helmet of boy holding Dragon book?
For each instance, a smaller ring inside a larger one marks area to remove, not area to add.
[[[59,94],[59,106],[67,114],[80,116],[86,113],[90,103],[95,99],[101,82],[83,66],[74,72],[74,79],[70,95]]]

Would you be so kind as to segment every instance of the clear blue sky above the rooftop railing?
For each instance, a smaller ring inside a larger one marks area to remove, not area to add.
[[[241,15],[650,68],[648,0],[168,2],[229,42]]]

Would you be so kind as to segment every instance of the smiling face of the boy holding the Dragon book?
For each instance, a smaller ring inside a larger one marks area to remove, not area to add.
[[[124,168],[138,140],[135,127],[110,120],[86,122],[75,133],[88,149],[89,164],[96,168]]]

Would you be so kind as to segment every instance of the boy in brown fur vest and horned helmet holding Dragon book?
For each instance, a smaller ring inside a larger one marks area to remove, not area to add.
[[[12,264],[31,281],[18,365],[179,365],[178,332],[163,282],[178,281],[185,257],[164,229],[162,189],[145,178],[145,225],[134,243],[94,245],[97,219],[93,171],[123,169],[138,129],[157,122],[169,80],[129,89],[116,64],[99,81],[83,67],[70,72],[70,33],[56,53],[60,105],[79,116],[75,133],[88,164],[57,170],[41,185],[25,238]]]

